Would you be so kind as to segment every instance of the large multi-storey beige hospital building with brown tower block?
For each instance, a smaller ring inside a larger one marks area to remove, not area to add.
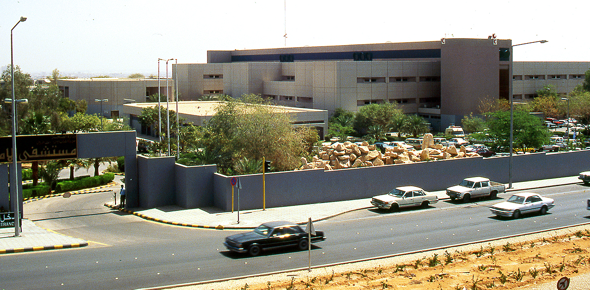
[[[357,111],[397,103],[440,130],[478,114],[484,98],[529,101],[553,85],[566,94],[590,62],[512,62],[510,39],[208,51],[207,64],[173,65],[181,100],[260,94],[281,106]],[[512,92],[511,92],[512,89]]]

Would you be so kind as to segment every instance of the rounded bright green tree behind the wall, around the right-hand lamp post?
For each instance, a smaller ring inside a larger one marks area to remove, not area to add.
[[[496,150],[506,151],[510,146],[510,112],[497,111],[488,121],[488,133]],[[540,118],[526,111],[514,110],[513,146],[515,149],[539,148],[549,141],[549,130]]]

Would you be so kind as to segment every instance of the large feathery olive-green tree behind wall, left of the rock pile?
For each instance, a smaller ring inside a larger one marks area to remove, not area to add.
[[[306,131],[314,129],[294,130],[291,123],[288,113],[269,106],[259,95],[226,96],[207,123],[203,148],[231,154],[231,160],[218,164],[222,173],[232,172],[240,159],[262,157],[276,170],[292,170],[299,167]]]

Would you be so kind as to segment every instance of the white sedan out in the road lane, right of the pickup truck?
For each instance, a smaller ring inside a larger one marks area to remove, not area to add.
[[[532,192],[516,193],[505,202],[490,207],[491,213],[497,216],[520,218],[523,213],[539,212],[545,215],[547,210],[555,206],[555,201]]]

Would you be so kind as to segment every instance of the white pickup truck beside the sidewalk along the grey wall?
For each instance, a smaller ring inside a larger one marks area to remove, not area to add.
[[[451,200],[460,199],[469,202],[471,197],[489,196],[496,198],[498,193],[506,191],[506,184],[490,181],[485,177],[470,177],[464,179],[459,185],[447,188],[447,195]]]

